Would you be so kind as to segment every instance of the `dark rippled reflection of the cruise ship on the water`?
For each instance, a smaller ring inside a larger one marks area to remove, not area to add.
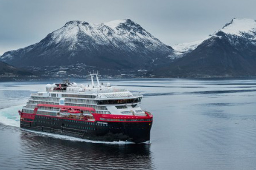
[[[20,147],[24,168],[154,169],[150,144],[95,144],[22,131]]]

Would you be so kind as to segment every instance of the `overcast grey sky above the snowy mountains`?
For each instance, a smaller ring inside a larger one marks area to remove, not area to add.
[[[256,19],[256,0],[0,0],[0,55],[70,20],[131,19],[167,45],[204,39],[232,18]]]

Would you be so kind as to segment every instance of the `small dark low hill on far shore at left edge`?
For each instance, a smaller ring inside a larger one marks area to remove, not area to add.
[[[20,68],[15,68],[14,66],[8,65],[4,62],[0,62],[0,80],[27,76],[32,76],[32,73]]]

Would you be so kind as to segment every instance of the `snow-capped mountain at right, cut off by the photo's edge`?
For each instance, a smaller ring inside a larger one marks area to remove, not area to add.
[[[201,43],[183,49],[186,50],[180,51],[180,57],[152,74],[164,77],[256,76],[256,20],[234,18]]]

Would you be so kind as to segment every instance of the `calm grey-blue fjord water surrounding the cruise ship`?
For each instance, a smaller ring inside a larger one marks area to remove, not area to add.
[[[91,142],[21,130],[17,110],[31,93],[54,81],[0,82],[0,169],[255,169],[256,79],[109,82],[144,95],[141,108],[154,114],[151,144]]]

